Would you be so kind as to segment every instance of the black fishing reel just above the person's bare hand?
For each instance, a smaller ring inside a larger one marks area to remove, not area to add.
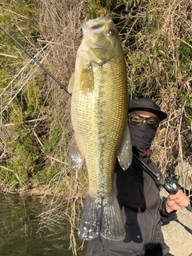
[[[163,184],[163,187],[169,194],[176,194],[178,192],[179,184],[178,180],[180,178],[179,175],[174,174],[174,166],[171,162],[168,162],[166,166],[166,178]]]

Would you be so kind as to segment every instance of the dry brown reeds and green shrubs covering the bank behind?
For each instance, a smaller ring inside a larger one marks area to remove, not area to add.
[[[0,10],[0,26],[66,87],[82,40],[82,22],[109,14],[125,51],[130,98],[150,97],[168,114],[153,143],[154,161],[162,171],[167,162],[179,163],[182,173],[184,162],[191,162],[192,143],[190,1],[2,0]],[[2,190],[39,187],[43,194],[62,194],[71,199],[76,216],[76,199],[86,192],[87,174],[74,173],[67,165],[70,95],[2,30],[0,77]]]

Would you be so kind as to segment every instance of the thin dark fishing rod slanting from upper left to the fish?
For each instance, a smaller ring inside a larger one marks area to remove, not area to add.
[[[53,74],[50,73],[50,71],[46,70],[45,66],[43,66],[40,62],[38,62],[38,60],[36,58],[34,58],[34,56],[32,56],[27,50],[26,48],[24,48],[14,37],[12,37],[12,35],[10,33],[8,33],[2,26],[0,26],[0,29],[2,29],[3,32],[6,33],[6,35],[8,35],[8,37],[10,37],[20,48],[22,48],[22,50],[31,58],[34,60],[34,62],[36,62],[38,64],[38,66],[40,66],[42,68],[42,70],[44,70],[46,72],[46,74],[49,74],[49,76],[51,78],[54,79],[55,82],[58,83],[59,86],[62,87],[62,89],[64,89],[66,91],[67,94],[70,94],[68,90],[66,90],[66,87],[63,86],[63,84],[61,82],[58,81],[57,78],[54,77]],[[71,94],[70,94],[71,96]]]

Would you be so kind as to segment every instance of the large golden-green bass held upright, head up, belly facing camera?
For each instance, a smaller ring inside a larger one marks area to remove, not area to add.
[[[120,241],[125,226],[114,193],[114,167],[117,158],[123,170],[132,162],[125,56],[112,18],[90,19],[82,32],[68,86],[74,130],[68,163],[81,170],[85,161],[89,178],[78,236]]]

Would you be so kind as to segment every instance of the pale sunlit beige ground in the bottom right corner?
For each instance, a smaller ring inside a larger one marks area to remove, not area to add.
[[[162,222],[165,242],[174,256],[192,256],[192,212],[182,208]]]

